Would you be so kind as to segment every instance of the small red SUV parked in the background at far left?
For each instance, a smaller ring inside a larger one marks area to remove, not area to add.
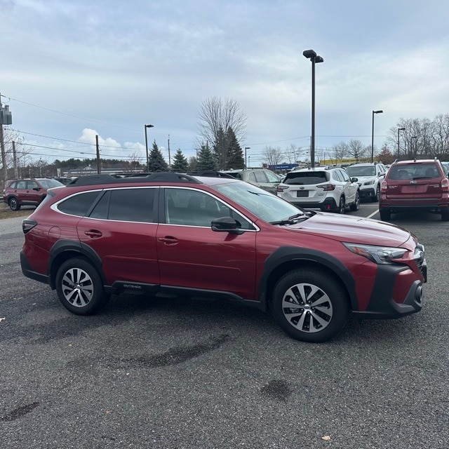
[[[19,210],[22,206],[38,206],[45,198],[47,189],[52,187],[62,187],[62,184],[47,177],[9,181],[3,192],[3,201],[11,210]]]

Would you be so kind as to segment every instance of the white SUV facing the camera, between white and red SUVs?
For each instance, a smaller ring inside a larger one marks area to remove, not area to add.
[[[361,199],[369,198],[373,203],[379,201],[380,185],[387,173],[383,163],[354,163],[346,168],[346,173],[358,179]]]

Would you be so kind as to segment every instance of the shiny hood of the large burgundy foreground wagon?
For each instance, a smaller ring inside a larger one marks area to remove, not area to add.
[[[288,226],[291,231],[309,232],[329,239],[379,246],[401,246],[410,239],[410,232],[390,223],[370,218],[320,213]]]

